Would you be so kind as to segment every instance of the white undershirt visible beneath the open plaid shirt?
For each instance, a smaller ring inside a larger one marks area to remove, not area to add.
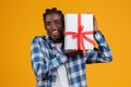
[[[55,44],[55,45],[56,45],[57,50],[61,51],[62,44]],[[69,87],[67,70],[66,70],[64,64],[60,65],[56,75],[57,75],[57,80],[52,87]]]

